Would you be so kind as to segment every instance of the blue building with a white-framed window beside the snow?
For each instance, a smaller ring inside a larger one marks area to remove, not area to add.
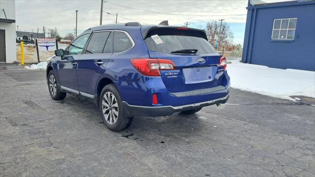
[[[315,0],[253,2],[247,7],[242,62],[315,71]]]

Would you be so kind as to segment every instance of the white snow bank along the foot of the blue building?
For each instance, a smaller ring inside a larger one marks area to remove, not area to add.
[[[296,69],[277,69],[241,63],[227,64],[231,87],[244,91],[288,99],[291,95],[315,97],[315,72]]]

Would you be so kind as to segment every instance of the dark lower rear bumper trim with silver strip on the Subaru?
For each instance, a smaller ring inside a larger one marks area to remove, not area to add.
[[[205,106],[210,106],[214,104],[224,104],[227,102],[229,98],[229,94],[222,98],[194,103],[189,105],[182,105],[182,106],[135,106],[129,105],[127,102],[123,101],[126,113],[129,116],[147,116],[147,117],[158,117],[158,116],[170,116],[174,113],[192,110],[196,108],[202,108]]]

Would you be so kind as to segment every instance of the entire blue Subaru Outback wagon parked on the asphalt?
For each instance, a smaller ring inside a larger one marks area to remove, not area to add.
[[[114,131],[130,126],[133,116],[193,114],[229,97],[226,59],[200,29],[165,22],[97,26],[55,54],[47,65],[51,97],[91,98]]]

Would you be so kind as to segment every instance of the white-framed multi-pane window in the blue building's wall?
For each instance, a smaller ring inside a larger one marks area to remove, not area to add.
[[[271,39],[294,39],[297,18],[274,19]]]

